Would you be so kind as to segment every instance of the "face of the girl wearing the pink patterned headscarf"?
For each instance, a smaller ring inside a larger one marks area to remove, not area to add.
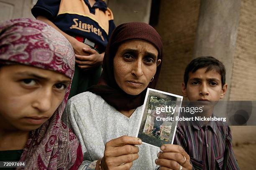
[[[64,74],[32,66],[0,67],[0,129],[40,127],[61,104],[70,81]]]

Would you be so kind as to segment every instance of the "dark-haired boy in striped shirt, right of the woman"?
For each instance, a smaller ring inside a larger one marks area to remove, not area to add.
[[[222,99],[226,91],[223,63],[213,57],[199,57],[188,64],[182,93],[189,101],[201,101],[205,105],[202,113],[205,117],[212,116],[212,103]],[[230,128],[223,122],[209,121],[185,126],[178,124],[174,144],[184,148],[195,170],[239,169],[232,150]]]

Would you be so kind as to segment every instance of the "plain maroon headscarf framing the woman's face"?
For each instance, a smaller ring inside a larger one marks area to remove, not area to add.
[[[158,51],[157,59],[162,60],[163,44],[156,30],[146,23],[132,22],[119,25],[113,31],[103,59],[103,72],[99,83],[88,91],[100,95],[108,104],[117,110],[131,110],[143,104],[146,89],[138,95],[126,94],[117,85],[113,71],[113,60],[120,44],[128,40],[143,40],[154,45]],[[162,63],[162,62],[161,62]],[[154,80],[148,84],[149,88],[155,88],[159,78],[161,63],[157,66]]]

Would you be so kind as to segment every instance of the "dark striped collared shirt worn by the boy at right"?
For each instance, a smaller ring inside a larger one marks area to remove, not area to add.
[[[184,148],[194,170],[239,170],[231,131],[223,122],[217,125],[210,121],[205,126],[178,124],[174,144]]]

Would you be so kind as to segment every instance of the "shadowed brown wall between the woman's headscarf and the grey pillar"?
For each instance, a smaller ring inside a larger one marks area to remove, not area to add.
[[[193,56],[200,0],[161,0],[155,27],[164,44],[164,58],[157,89],[182,95],[187,63]]]

